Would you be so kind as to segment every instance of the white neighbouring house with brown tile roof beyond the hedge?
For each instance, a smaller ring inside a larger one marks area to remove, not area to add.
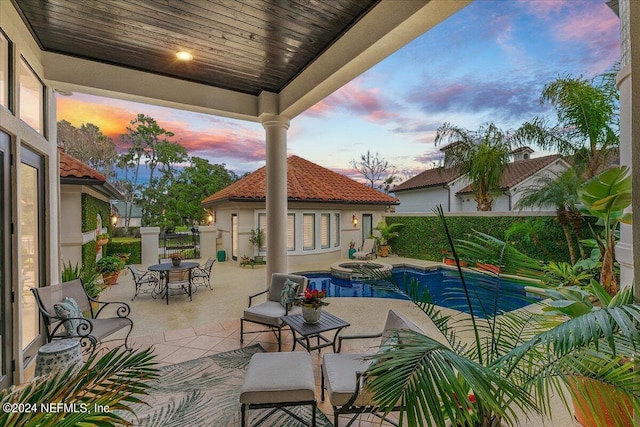
[[[509,212],[524,195],[523,190],[536,185],[542,176],[552,176],[567,170],[570,165],[559,155],[530,158],[531,150],[522,147],[513,152],[500,179],[502,194],[493,202],[493,211]],[[445,212],[475,212],[476,201],[470,182],[457,170],[443,167],[428,169],[394,188],[400,204],[398,213],[427,212],[442,205]],[[549,210],[554,210],[549,206]]]

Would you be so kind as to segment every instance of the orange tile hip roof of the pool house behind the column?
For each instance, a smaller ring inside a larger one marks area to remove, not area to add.
[[[203,205],[233,201],[263,201],[266,166],[212,194]],[[287,158],[287,196],[292,201],[396,205],[398,199],[298,156]]]

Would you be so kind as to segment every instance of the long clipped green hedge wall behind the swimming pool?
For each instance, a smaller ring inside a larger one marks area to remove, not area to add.
[[[525,254],[544,261],[569,261],[569,250],[562,228],[555,217],[540,216],[449,216],[447,225],[456,239],[468,239],[473,231],[489,234],[500,240],[505,240],[505,232],[516,222],[541,221],[545,235],[540,236],[543,246],[551,254],[545,254],[530,241],[517,241],[515,246]],[[395,253],[400,256],[431,261],[442,260],[442,250],[449,250],[449,243],[444,233],[442,223],[436,216],[424,217],[387,217],[387,224],[401,223],[399,236],[391,240]],[[590,236],[587,231],[586,237]]]

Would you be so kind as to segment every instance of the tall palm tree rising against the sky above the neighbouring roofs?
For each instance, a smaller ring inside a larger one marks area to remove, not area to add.
[[[619,143],[619,95],[611,74],[592,80],[564,76],[546,84],[540,103],[553,106],[557,123],[535,118],[514,133],[514,142],[535,143],[573,156],[581,177],[595,176]]]

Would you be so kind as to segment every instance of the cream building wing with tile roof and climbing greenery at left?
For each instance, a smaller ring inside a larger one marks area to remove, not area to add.
[[[59,153],[60,217],[64,218],[60,221],[60,251],[65,263],[81,265],[83,252],[85,256],[101,256],[101,248],[96,252],[95,245],[90,243],[95,242],[97,234],[107,232],[110,202],[122,195],[100,172],[71,157],[62,148]],[[85,245],[88,246],[83,251]],[[89,246],[92,248],[90,254]]]

